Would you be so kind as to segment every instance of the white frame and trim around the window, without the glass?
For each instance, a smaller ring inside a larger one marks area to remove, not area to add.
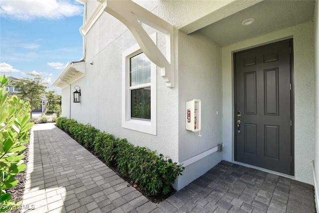
[[[156,41],[156,34],[151,36]],[[131,90],[130,90],[130,58],[142,53],[141,47],[136,44],[123,52],[122,63],[122,127],[152,135],[157,135],[157,66],[151,61],[151,120],[131,118]],[[145,84],[136,86],[143,88]],[[132,89],[133,87],[131,87]],[[135,86],[134,86],[135,88]]]

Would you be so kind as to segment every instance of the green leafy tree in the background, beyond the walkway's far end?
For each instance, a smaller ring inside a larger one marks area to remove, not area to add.
[[[41,75],[28,73],[33,78],[20,78],[18,80],[12,80],[11,83],[14,88],[17,88],[19,92],[15,93],[20,99],[28,101],[31,105],[31,110],[41,106],[41,94],[44,93],[47,88],[46,84],[41,79]],[[32,117],[32,112],[30,112]]]

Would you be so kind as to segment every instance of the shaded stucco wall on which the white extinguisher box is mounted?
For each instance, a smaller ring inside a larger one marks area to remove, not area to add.
[[[222,142],[221,48],[195,32],[178,32],[178,162],[194,157]],[[201,100],[201,136],[185,130],[185,103]],[[218,113],[218,115],[217,115]],[[222,160],[215,152],[185,168],[178,188],[198,178]]]

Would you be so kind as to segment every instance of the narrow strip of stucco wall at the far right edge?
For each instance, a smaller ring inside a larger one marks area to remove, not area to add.
[[[315,4],[314,14],[314,63],[315,63],[315,196],[319,211],[319,2]]]

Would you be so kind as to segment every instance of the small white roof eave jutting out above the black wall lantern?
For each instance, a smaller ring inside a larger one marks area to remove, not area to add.
[[[64,68],[52,86],[64,88],[85,75],[85,61],[73,61]]]

